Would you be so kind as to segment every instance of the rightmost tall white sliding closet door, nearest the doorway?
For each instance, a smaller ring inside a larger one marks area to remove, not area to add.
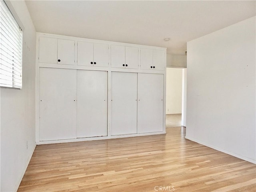
[[[138,133],[163,131],[163,74],[138,74]]]

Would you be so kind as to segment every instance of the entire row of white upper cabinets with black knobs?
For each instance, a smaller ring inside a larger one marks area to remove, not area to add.
[[[67,40],[54,37],[39,36],[38,59],[43,66],[48,63],[65,64],[70,68],[79,69],[88,66],[111,66],[115,68],[114,70],[118,70],[118,68],[153,70],[152,72],[148,71],[149,73],[154,73],[154,70],[164,71],[166,68],[166,50],[164,48],[121,43],[113,45],[107,41],[82,38]]]

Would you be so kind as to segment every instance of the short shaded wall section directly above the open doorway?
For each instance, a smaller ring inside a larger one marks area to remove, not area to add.
[[[187,67],[186,55],[166,54],[166,66],[169,67]]]

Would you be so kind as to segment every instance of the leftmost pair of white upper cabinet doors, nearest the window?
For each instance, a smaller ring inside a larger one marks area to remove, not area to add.
[[[39,38],[39,62],[74,65],[75,42],[56,38]]]

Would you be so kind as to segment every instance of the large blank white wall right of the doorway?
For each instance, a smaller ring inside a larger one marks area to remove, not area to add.
[[[256,17],[187,44],[186,138],[256,163]]]

